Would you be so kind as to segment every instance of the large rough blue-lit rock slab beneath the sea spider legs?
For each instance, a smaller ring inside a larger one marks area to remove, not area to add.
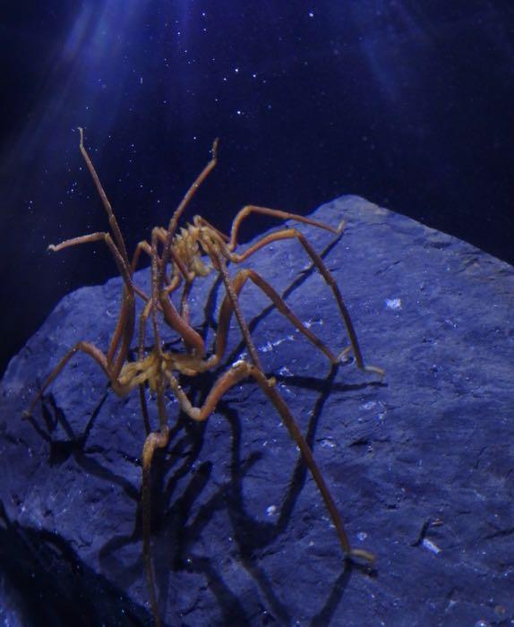
[[[331,372],[256,288],[245,288],[243,309],[351,541],[377,555],[376,573],[343,568],[313,479],[253,383],[227,393],[206,425],[177,421],[170,398],[176,429],[153,482],[166,623],[510,624],[514,270],[360,198],[313,215],[347,220],[333,245],[330,233],[300,228],[324,251],[364,358],[386,370],[383,382],[353,364]],[[347,344],[330,288],[297,242],[270,245],[251,262],[334,351]],[[148,273],[137,280],[144,286]],[[211,279],[193,293],[193,321],[210,338],[222,293]],[[2,383],[0,594],[8,604],[0,605],[12,608],[11,624],[16,615],[39,624],[56,598],[62,612],[45,624],[70,624],[66,612],[90,625],[150,621],[137,392],[117,398],[99,367],[77,356],[33,420],[21,419],[66,348],[77,339],[107,346],[119,295],[114,279],[64,298]],[[233,325],[227,363],[244,352],[239,338]],[[193,399],[216,375],[191,381]]]

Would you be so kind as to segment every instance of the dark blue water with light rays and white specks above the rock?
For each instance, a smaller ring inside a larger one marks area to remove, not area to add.
[[[511,2],[66,0],[4,6],[0,33],[2,372],[116,274],[104,245],[46,253],[107,228],[79,125],[129,250],[219,137],[190,217],[353,193],[514,262]]]

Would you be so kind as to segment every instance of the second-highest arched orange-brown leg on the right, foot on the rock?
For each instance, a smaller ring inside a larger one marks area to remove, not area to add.
[[[345,305],[343,301],[343,297],[341,296],[338,284],[323,260],[321,259],[320,255],[316,253],[316,251],[313,249],[313,246],[309,243],[308,239],[302,233],[300,233],[300,231],[296,230],[296,228],[280,229],[279,231],[270,233],[270,235],[268,236],[262,237],[262,239],[256,242],[253,246],[245,250],[244,253],[237,254],[227,251],[227,257],[231,262],[240,263],[247,259],[249,256],[251,256],[253,253],[256,253],[263,246],[269,245],[271,242],[277,242],[279,240],[292,238],[298,239],[300,244],[304,246],[305,252],[311,257],[311,259],[313,260],[313,264],[316,266],[318,271],[320,271],[321,276],[323,277],[323,279],[325,279],[327,285],[330,286],[336,302],[338,303],[339,312],[345,322],[345,326],[347,327],[348,338],[350,339],[350,344],[356,358],[357,367],[361,370],[364,370],[365,372],[378,374],[380,377],[382,377],[384,374],[382,368],[379,368],[376,365],[364,365],[364,359],[361,348],[359,347],[354,324],[347,310],[347,305]]]

